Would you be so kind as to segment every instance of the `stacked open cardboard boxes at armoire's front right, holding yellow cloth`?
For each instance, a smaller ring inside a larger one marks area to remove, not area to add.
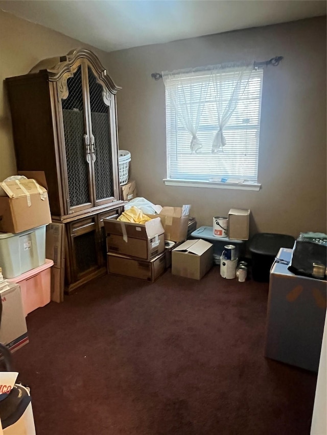
[[[145,224],[104,219],[108,272],[154,282],[171,264],[171,251],[186,239],[189,206],[164,207]],[[165,241],[174,242],[165,249]]]

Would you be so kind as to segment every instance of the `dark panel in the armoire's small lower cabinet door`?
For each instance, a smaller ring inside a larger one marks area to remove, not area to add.
[[[82,234],[74,239],[78,273],[86,272],[98,265],[95,232]]]

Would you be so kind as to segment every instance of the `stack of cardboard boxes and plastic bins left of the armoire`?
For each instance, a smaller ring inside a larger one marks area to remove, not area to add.
[[[51,222],[45,180],[41,173],[24,175],[0,183],[0,267],[6,278],[0,341],[12,350],[28,342],[27,314],[50,302],[53,264],[45,259],[45,227]]]

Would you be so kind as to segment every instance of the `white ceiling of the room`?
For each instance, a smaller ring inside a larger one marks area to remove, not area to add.
[[[1,0],[0,8],[107,52],[326,14],[324,0]]]

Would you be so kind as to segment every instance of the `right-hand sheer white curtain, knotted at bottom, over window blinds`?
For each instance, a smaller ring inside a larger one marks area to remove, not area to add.
[[[211,78],[215,89],[218,131],[213,140],[212,152],[226,145],[224,127],[238,106],[240,97],[249,83],[253,63],[234,68],[213,67]]]

